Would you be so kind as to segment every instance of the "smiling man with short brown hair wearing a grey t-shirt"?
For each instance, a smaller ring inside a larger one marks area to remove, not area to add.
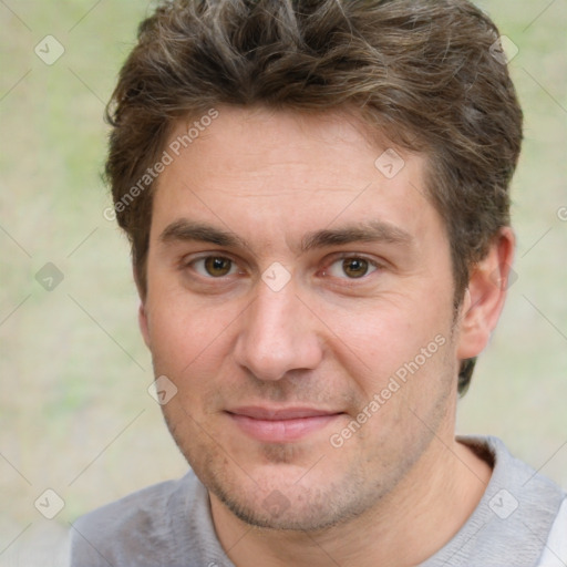
[[[111,213],[192,472],[79,519],[73,565],[567,560],[564,492],[454,435],[514,254],[522,112],[483,12],[166,2],[110,120]]]

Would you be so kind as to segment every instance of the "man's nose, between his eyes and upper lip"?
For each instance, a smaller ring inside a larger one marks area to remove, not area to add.
[[[292,282],[274,291],[259,281],[240,324],[236,361],[259,380],[280,380],[290,371],[313,370],[321,362],[317,318],[296,295]]]

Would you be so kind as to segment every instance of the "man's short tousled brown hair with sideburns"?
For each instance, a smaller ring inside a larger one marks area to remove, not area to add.
[[[377,135],[427,156],[457,307],[471,267],[509,225],[522,110],[497,48],[496,27],[467,0],[163,2],[142,22],[106,113],[106,177],[142,293],[155,184],[140,179],[173,124],[220,104],[261,104],[355,109]],[[463,361],[460,392],[473,368]]]

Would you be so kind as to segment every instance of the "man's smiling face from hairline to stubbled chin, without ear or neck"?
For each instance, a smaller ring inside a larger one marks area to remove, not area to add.
[[[423,157],[377,166],[388,146],[341,114],[218,110],[159,177],[142,329],[212,497],[320,528],[452,439],[449,240]]]

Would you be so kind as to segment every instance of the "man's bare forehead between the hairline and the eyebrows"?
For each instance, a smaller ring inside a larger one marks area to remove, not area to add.
[[[425,157],[372,140],[353,115],[216,112],[213,121],[175,124],[153,233],[176,217],[207,220],[246,239],[300,239],[338,223],[382,220],[410,233],[440,224],[424,196]]]

